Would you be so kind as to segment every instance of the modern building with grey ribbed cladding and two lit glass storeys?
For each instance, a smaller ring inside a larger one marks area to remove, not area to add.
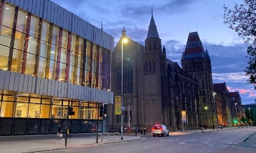
[[[0,136],[95,132],[114,38],[49,0],[1,1]]]

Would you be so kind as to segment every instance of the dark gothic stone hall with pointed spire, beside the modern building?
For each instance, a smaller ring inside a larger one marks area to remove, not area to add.
[[[121,41],[124,37],[127,37],[125,29],[112,54],[115,96],[121,95]],[[170,130],[182,129],[181,111],[185,110],[187,126],[199,128],[198,82],[166,58],[153,14],[145,46],[128,38],[128,43],[123,45],[123,61],[125,126],[130,119],[131,126],[146,125],[147,131],[151,131],[154,124],[165,124]],[[114,107],[112,114],[109,116],[110,129],[119,129],[120,115],[114,115]]]

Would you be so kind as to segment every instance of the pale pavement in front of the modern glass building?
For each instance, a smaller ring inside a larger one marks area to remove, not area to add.
[[[142,139],[141,136],[123,136],[123,142],[139,140]],[[104,135],[103,139],[99,135],[98,144],[96,144],[95,136],[84,136],[84,137],[67,137],[67,148],[69,147],[85,147],[94,146],[99,144],[107,144],[113,142],[121,142],[120,135]],[[50,151],[65,149],[65,139],[35,139],[35,140],[12,140],[12,141],[1,141],[0,142],[0,152],[40,152],[40,151]]]

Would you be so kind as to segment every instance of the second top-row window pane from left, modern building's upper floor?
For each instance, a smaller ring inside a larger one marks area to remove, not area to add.
[[[27,27],[27,13],[19,10],[18,11],[18,18],[17,18],[17,25],[16,30],[26,33],[26,27]]]

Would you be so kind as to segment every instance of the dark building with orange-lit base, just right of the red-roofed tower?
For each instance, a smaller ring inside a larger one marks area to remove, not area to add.
[[[232,126],[229,91],[226,83],[214,83],[214,102],[218,113],[218,125]]]

